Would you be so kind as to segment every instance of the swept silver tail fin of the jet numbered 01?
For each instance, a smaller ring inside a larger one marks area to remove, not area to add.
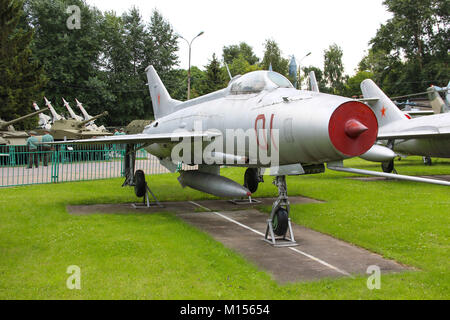
[[[162,83],[153,66],[148,66],[145,69],[147,72],[148,88],[150,89],[150,96],[152,98],[153,113],[155,119],[164,117],[176,111],[176,106],[181,101],[174,100],[170,97],[166,87]]]

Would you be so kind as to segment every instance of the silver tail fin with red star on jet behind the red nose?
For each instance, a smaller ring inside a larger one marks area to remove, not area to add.
[[[403,112],[389,99],[371,79],[361,82],[364,99],[377,116],[380,127],[399,120],[406,120]]]

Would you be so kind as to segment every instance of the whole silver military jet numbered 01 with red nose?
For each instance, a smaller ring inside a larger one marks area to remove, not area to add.
[[[347,169],[342,160],[366,153],[377,139],[377,109],[345,97],[297,90],[273,71],[236,76],[227,88],[185,102],[170,97],[153,66],[146,73],[155,121],[141,134],[68,143],[127,144],[124,185],[134,186],[139,197],[148,188],[144,173],[134,172],[140,148],[172,172],[179,162],[198,165],[198,170],[180,171],[180,183],[219,197],[250,196],[263,180],[263,169],[270,169],[279,194],[266,231],[273,245],[280,237],[295,244],[285,176],[321,173],[325,163]],[[224,163],[248,168],[244,186],[220,175]]]

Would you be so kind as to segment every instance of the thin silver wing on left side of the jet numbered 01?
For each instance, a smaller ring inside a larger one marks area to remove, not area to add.
[[[220,136],[218,131],[182,131],[173,133],[156,133],[156,134],[130,134],[120,136],[99,137],[94,139],[67,140],[51,142],[49,144],[143,144],[143,143],[159,143],[159,142],[178,142],[183,138],[214,138]]]

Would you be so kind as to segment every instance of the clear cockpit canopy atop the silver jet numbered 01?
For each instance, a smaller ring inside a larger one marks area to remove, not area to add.
[[[277,88],[294,88],[284,76],[273,71],[254,71],[235,79],[230,94],[251,94]]]

